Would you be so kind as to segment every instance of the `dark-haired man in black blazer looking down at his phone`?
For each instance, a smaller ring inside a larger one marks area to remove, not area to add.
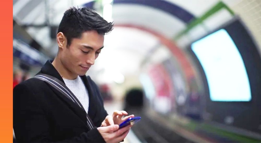
[[[104,34],[112,27],[88,8],[73,7],[64,13],[57,34],[58,54],[37,75],[65,83],[78,100],[70,100],[37,76],[18,84],[13,92],[18,142],[120,142],[126,137],[131,125],[121,129],[118,125],[134,115],[115,110],[109,116],[97,85],[85,76],[103,48]]]

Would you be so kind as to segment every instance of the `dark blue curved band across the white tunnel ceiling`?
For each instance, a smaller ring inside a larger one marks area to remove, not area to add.
[[[93,8],[94,1],[84,4],[85,7]],[[185,23],[189,23],[194,17],[190,12],[173,3],[162,0],[114,0],[113,4],[142,4],[167,12]]]

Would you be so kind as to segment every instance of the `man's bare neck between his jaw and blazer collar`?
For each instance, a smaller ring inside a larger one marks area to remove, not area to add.
[[[64,79],[74,80],[78,77],[78,75],[73,74],[69,69],[67,69],[57,56],[52,62],[52,65]]]

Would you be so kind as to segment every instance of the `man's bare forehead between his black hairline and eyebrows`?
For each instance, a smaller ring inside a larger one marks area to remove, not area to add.
[[[85,31],[79,38],[73,38],[71,44],[85,44],[94,49],[100,49],[103,47],[104,35],[98,34],[96,30]]]

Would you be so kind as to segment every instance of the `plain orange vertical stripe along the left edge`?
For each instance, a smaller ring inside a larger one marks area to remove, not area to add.
[[[13,1],[1,1],[0,8],[0,142],[13,142]]]

